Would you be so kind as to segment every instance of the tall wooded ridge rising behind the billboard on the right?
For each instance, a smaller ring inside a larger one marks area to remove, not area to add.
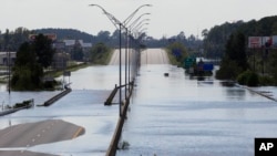
[[[215,25],[212,29],[202,31],[203,48],[206,58],[222,58],[225,51],[225,44],[233,33],[240,31],[246,38],[248,37],[270,37],[277,34],[277,15],[266,17],[258,21],[248,22],[236,21],[225,22]],[[247,40],[247,39],[246,39]]]

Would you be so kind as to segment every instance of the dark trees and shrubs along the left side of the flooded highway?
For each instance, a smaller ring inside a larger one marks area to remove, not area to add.
[[[54,90],[61,82],[54,77],[63,74],[64,71],[75,71],[89,65],[105,65],[112,56],[112,49],[102,42],[99,42],[89,50],[89,55],[76,45],[73,46],[66,60],[65,67],[53,66],[55,49],[53,41],[47,35],[38,34],[30,40],[29,31],[24,28],[18,28],[16,31],[7,30],[4,34],[0,32],[0,50],[17,51],[14,64],[11,66],[10,89],[13,91],[41,91]],[[88,56],[88,58],[85,58]],[[7,66],[2,65],[1,71],[7,71]],[[7,73],[2,73],[0,83],[8,83]]]

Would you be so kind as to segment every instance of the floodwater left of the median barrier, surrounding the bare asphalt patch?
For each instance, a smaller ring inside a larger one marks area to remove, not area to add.
[[[35,106],[17,113],[0,116],[0,129],[9,124],[23,124],[44,119],[63,119],[85,128],[85,134],[64,142],[38,145],[25,148],[31,152],[62,156],[105,155],[114,133],[119,107],[104,106],[104,102],[119,81],[117,66],[90,66],[72,72],[70,77],[72,92],[49,107]],[[63,80],[63,77],[59,77]],[[4,105],[34,98],[35,105],[61,91],[54,92],[11,92],[6,85],[0,86],[0,100]],[[3,148],[7,150],[7,148]],[[1,150],[1,148],[0,148]]]

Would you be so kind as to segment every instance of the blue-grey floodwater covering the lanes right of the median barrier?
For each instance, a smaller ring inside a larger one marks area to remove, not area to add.
[[[122,135],[130,146],[116,155],[253,156],[255,137],[277,137],[276,112],[276,102],[243,87],[143,65]]]

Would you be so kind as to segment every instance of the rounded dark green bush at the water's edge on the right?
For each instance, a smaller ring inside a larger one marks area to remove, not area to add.
[[[237,82],[242,85],[257,86],[259,84],[259,76],[252,71],[245,71],[237,76]]]

